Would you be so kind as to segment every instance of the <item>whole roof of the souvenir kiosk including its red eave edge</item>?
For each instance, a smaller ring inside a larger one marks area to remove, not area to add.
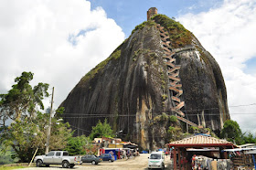
[[[176,147],[218,147],[224,145],[233,146],[234,144],[226,140],[221,140],[214,137],[199,134],[179,141],[168,143],[168,145]]]

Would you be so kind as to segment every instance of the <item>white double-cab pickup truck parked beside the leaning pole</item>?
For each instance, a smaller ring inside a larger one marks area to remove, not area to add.
[[[72,168],[75,165],[80,165],[80,156],[69,156],[67,151],[51,151],[46,155],[37,155],[34,159],[37,167],[42,165],[62,165],[65,168]]]

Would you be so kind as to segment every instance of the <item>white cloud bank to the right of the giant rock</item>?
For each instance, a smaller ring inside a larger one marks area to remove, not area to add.
[[[229,106],[256,102],[255,72],[243,70],[245,62],[256,57],[255,18],[256,2],[251,0],[224,0],[208,12],[178,18],[218,61],[228,90]],[[229,107],[229,112],[242,131],[256,132],[256,105]]]

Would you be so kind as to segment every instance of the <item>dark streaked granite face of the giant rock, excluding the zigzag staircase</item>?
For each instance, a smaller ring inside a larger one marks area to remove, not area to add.
[[[178,76],[185,118],[217,133],[222,122],[229,119],[226,87],[216,60],[192,33],[186,33],[189,38],[182,37],[185,33],[173,37],[174,27],[165,21],[176,21],[162,15],[154,19],[136,27],[61,103],[65,107],[64,120],[76,127],[75,135],[88,135],[91,126],[107,118],[114,132],[123,130],[123,140],[144,149],[163,147],[169,142],[168,116],[176,112],[172,111],[165,50],[156,23],[170,34],[173,49],[188,47],[175,56],[176,65],[181,66]]]

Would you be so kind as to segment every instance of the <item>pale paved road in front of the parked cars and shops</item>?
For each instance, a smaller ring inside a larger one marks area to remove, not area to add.
[[[113,163],[109,162],[101,162],[99,165],[91,165],[84,163],[82,165],[75,165],[75,170],[83,170],[83,169],[90,169],[90,170],[116,170],[116,169],[129,169],[129,170],[135,170],[135,169],[147,169],[147,158],[149,154],[140,154],[140,156],[135,156],[132,159],[128,160],[117,160]],[[170,169],[170,158],[169,156],[165,159],[165,166],[167,166],[165,169]],[[51,165],[50,167],[29,167],[24,168],[22,170],[59,170],[61,169],[61,165]]]

